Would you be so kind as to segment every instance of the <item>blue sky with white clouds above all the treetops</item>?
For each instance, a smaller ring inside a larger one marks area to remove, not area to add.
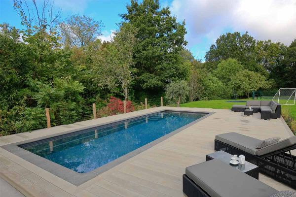
[[[27,0],[30,1],[30,0]],[[41,0],[37,0],[37,2]],[[126,13],[129,0],[52,0],[62,8],[61,19],[86,15],[104,23],[102,40],[110,40]],[[296,0],[160,0],[169,6],[178,21],[185,20],[188,48],[204,61],[206,52],[217,38],[227,32],[248,31],[257,40],[271,39],[290,45],[296,38]],[[22,28],[13,8],[13,0],[0,0],[0,23]]]

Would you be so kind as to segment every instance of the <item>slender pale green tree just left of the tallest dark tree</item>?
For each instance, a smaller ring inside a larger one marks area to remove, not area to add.
[[[103,43],[97,57],[93,59],[99,85],[121,94],[125,99],[128,99],[128,90],[134,79],[133,48],[137,41],[136,32],[131,24],[122,24],[114,40]]]

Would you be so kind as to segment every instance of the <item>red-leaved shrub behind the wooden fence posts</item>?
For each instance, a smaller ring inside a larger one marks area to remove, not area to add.
[[[111,110],[111,115],[115,115],[115,114],[120,114],[123,113],[123,101],[115,98],[115,97],[111,97],[110,98],[110,103],[108,103],[108,108]],[[132,101],[127,100],[126,101],[126,112],[131,112],[134,111],[135,107],[132,104]]]

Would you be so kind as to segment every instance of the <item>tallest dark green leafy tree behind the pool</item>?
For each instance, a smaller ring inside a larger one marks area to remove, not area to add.
[[[169,7],[160,8],[158,0],[131,0],[126,8],[127,13],[120,15],[122,24],[129,23],[138,30],[133,56],[135,89],[158,94],[169,82],[185,79],[188,67],[179,55],[187,44],[185,22],[178,23]]]

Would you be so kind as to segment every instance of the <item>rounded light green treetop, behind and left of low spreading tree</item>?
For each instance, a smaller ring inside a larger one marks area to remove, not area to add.
[[[222,60],[221,63],[218,64],[217,69],[214,70],[214,74],[220,81],[227,84],[231,80],[231,76],[235,75],[241,69],[243,69],[242,65],[235,59],[229,58],[227,60]]]

